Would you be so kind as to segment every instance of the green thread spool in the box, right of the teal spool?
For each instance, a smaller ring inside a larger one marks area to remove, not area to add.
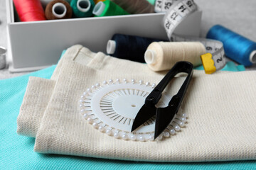
[[[110,0],[98,2],[92,13],[95,14],[95,16],[120,16],[129,14],[127,11],[124,11],[123,8],[114,4],[114,2]]]

